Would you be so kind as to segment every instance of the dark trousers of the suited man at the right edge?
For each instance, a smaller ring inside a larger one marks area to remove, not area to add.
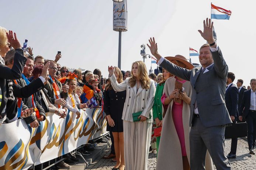
[[[255,146],[256,140],[256,112],[249,111],[249,114],[246,116],[247,123],[247,141],[249,149],[253,149]]]

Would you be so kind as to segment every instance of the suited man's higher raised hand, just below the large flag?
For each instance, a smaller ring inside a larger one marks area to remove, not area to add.
[[[213,22],[211,22],[211,19],[206,18],[206,22],[204,20],[204,31],[198,30],[198,32],[201,34],[201,36],[209,43],[212,44],[214,42],[213,38]]]

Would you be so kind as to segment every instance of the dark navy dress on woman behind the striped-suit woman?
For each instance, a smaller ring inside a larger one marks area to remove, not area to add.
[[[107,123],[107,131],[123,132],[122,112],[124,109],[124,102],[126,97],[126,90],[116,92],[113,89],[106,90],[104,93],[104,112],[110,115],[115,122],[115,126],[111,127]]]

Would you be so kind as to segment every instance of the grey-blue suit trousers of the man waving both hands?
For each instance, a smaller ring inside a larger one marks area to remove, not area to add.
[[[199,117],[194,117],[190,134],[190,169],[205,170],[205,157],[209,151],[218,170],[231,170],[225,155],[225,125],[205,127]]]

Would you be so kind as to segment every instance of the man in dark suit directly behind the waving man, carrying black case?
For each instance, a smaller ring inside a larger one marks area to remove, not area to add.
[[[233,84],[235,80],[235,74],[228,72],[228,77],[226,79],[226,93],[225,93],[225,103],[226,108],[228,109],[229,116],[232,122],[235,124],[238,117],[238,89]],[[237,138],[231,139],[231,150],[227,155],[228,159],[236,158],[236,147],[237,147]]]

